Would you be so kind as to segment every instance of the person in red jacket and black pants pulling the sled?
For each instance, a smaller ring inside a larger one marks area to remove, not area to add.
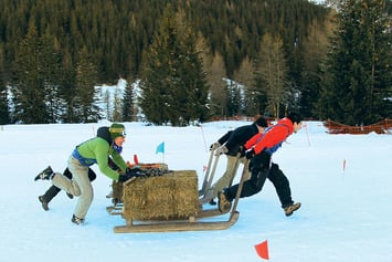
[[[272,163],[272,155],[293,133],[297,133],[301,127],[299,114],[290,113],[277,124],[265,129],[248,139],[244,145],[244,154],[251,159],[251,179],[243,184],[241,198],[251,197],[259,192],[268,178],[275,186],[285,214],[292,216],[300,208],[300,202],[294,202],[289,181],[277,164]],[[219,209],[221,212],[231,208],[231,202],[236,196],[239,184],[224,189],[218,193]]]

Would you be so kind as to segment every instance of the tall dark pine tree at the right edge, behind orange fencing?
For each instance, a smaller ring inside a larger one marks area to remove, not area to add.
[[[384,0],[339,2],[339,28],[325,69],[320,112],[348,125],[368,125],[391,109],[391,31]]]

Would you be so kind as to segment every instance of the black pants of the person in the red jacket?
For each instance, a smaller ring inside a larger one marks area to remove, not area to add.
[[[265,180],[268,178],[273,182],[279,197],[282,207],[293,205],[292,191],[287,177],[276,164],[271,164],[271,155],[262,151],[251,160],[251,179],[243,184],[240,198],[251,197],[263,189]],[[224,192],[229,201],[232,201],[239,190],[239,184],[227,188]]]

